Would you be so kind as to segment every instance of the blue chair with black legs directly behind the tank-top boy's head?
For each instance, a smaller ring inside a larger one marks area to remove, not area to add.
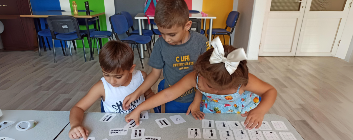
[[[121,15],[121,14],[113,15],[113,16],[109,17],[109,20],[110,20],[110,24],[113,27],[113,31],[116,34],[124,34],[124,33],[127,34],[128,37],[121,39],[122,42],[136,45],[137,52],[138,52],[138,55],[139,55],[139,58],[141,61],[141,66],[142,66],[142,68],[144,68],[143,63],[142,63],[142,59],[141,59],[141,55],[140,55],[140,50],[138,49],[138,44],[146,44],[147,47],[150,47],[149,43],[151,41],[151,36],[130,35],[130,33],[128,32],[129,26],[128,26],[127,20],[124,15]],[[120,40],[119,37],[116,39]],[[149,51],[147,51],[147,52],[148,52],[148,55],[150,56]]]

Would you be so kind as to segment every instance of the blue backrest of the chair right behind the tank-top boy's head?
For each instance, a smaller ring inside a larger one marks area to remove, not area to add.
[[[116,14],[109,17],[110,25],[116,34],[124,34],[129,30],[127,20],[124,15]]]

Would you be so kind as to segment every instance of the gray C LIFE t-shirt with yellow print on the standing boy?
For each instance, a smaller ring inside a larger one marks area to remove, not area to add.
[[[186,74],[192,72],[193,64],[199,55],[210,49],[208,39],[195,31],[190,31],[190,39],[184,44],[170,45],[162,37],[156,41],[148,65],[163,68],[166,79],[164,88],[174,85]],[[195,88],[190,89],[174,101],[189,103],[194,100]]]

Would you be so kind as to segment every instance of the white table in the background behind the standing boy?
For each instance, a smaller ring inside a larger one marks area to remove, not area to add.
[[[213,19],[216,19],[217,17],[211,16],[210,14],[208,14],[208,17],[202,17],[201,13],[190,13],[189,18],[204,19],[203,20],[203,28],[202,28],[204,30],[206,28],[206,19],[210,19],[210,28],[209,28],[210,31],[209,32],[212,33]],[[141,22],[141,20],[147,19],[147,17],[145,17],[143,13],[138,13],[135,16],[135,19],[138,19],[138,33],[139,33],[139,35],[142,35],[142,29],[145,29],[145,27],[144,27],[143,22]],[[149,17],[149,19],[154,19],[154,17]],[[206,34],[206,30],[205,30],[205,34]],[[211,35],[208,36],[208,42],[211,42]],[[147,50],[147,47],[146,47],[146,45],[140,44],[140,51],[143,52],[143,50]],[[141,53],[141,58],[142,59],[144,58],[143,53]]]

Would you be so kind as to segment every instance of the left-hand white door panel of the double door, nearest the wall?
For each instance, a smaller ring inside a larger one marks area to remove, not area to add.
[[[268,0],[259,56],[295,56],[305,0]]]

